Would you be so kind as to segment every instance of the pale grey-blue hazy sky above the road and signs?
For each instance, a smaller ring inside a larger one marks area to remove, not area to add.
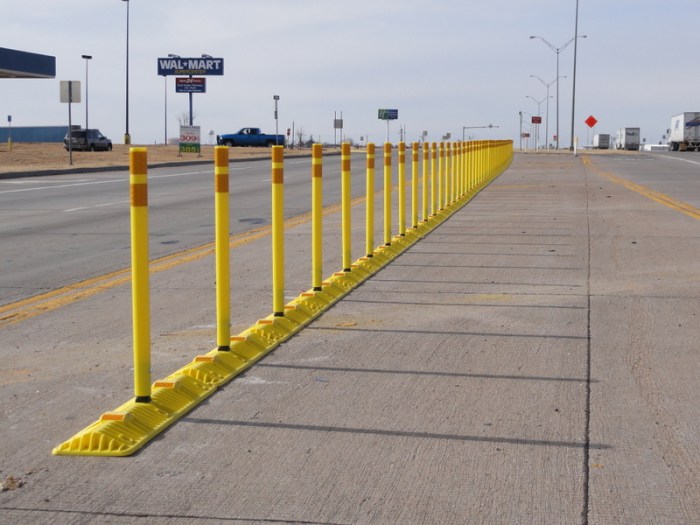
[[[557,55],[530,36],[562,48],[574,37],[576,0],[129,0],[128,8],[132,144],[162,144],[166,116],[168,138],[179,135],[188,95],[157,74],[157,59],[173,53],[224,59],[224,75],[193,95],[204,144],[245,126],[274,133],[278,95],[280,133],[294,126],[331,144],[340,142],[341,113],[343,137],[355,142],[396,143],[405,129],[407,142],[427,131],[428,141],[451,133],[516,147],[521,116],[527,132],[539,113],[541,142],[549,131],[553,143],[558,105],[560,146],[571,145],[574,43]],[[0,0],[0,13],[0,47],[56,57],[55,79],[0,79],[0,126],[6,115],[13,127],[67,125],[61,80],[81,81],[72,114],[84,124],[81,55],[91,55],[90,127],[123,143],[127,2]],[[672,115],[700,111],[698,20],[698,0],[579,0],[579,145],[622,127],[658,143]],[[378,109],[398,109],[399,118],[387,126]]]

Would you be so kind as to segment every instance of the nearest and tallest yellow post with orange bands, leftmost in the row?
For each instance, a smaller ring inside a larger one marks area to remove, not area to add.
[[[134,395],[151,401],[151,315],[148,285],[148,153],[129,150],[131,198],[131,291],[134,334]]]

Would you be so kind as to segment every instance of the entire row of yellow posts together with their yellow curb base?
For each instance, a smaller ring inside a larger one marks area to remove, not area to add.
[[[410,227],[406,226],[406,145],[398,144],[398,221],[394,231],[393,145],[383,149],[383,243],[375,246],[375,155],[367,145],[365,251],[351,255],[350,145],[341,147],[342,271],[323,279],[323,149],[311,157],[311,288],[284,304],[284,149],[272,148],[272,314],[236,336],[230,335],[229,149],[215,150],[215,247],[217,346],[167,378],[151,384],[148,263],[147,151],[130,150],[134,398],[68,441],[59,455],[126,456],[250,368],[301,330],[359,283],[432,231],[505,171],[512,141],[471,141],[411,145]],[[422,169],[420,153],[423,152]],[[422,191],[421,191],[422,190]],[[419,217],[421,215],[422,217]]]

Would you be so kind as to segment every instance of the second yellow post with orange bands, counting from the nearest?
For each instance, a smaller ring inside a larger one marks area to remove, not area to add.
[[[214,148],[214,215],[216,251],[216,345],[231,349],[231,257],[229,250],[228,146]]]

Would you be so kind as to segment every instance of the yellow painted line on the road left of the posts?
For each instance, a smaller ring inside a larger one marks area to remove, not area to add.
[[[365,197],[358,197],[352,201],[355,206],[364,202]],[[337,213],[340,204],[327,206],[323,209],[323,215]],[[299,226],[311,220],[311,213],[303,213],[287,219],[284,223],[285,229]],[[263,226],[255,230],[231,236],[229,246],[236,248],[244,246],[253,241],[262,239],[270,235],[271,226]],[[214,243],[207,243],[201,246],[190,248],[171,255],[166,255],[154,259],[150,263],[150,273],[158,273],[169,270],[181,264],[197,261],[214,254]],[[56,310],[62,306],[82,301],[93,295],[104,292],[116,286],[126,284],[131,281],[131,268],[117,270],[105,275],[86,279],[77,283],[69,284],[56,290],[51,290],[43,294],[28,297],[20,301],[0,306],[0,328],[18,323],[35,317],[37,315]]]

